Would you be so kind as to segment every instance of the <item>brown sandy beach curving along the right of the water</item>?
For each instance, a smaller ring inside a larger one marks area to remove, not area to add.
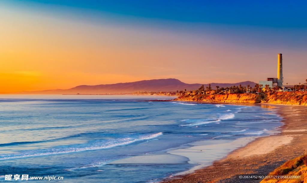
[[[267,175],[284,162],[307,152],[307,108],[305,106],[256,105],[277,110],[284,123],[278,129],[281,133],[272,133],[270,136],[255,140],[246,139],[242,143],[243,147],[230,152],[227,157],[215,161],[211,166],[198,167],[200,169],[193,173],[185,172],[187,174],[167,178],[164,182],[260,182],[260,179],[243,179],[240,175]],[[247,145],[244,142],[247,142]],[[204,149],[199,151],[205,151],[205,147],[208,146],[204,146]],[[177,152],[177,155],[182,154],[183,152]],[[189,156],[187,157],[193,161]]]

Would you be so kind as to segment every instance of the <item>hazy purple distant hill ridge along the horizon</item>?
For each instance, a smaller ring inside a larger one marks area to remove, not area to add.
[[[212,89],[215,89],[216,86],[220,87],[230,87],[230,86],[255,86],[255,82],[245,81],[238,83],[211,83]],[[107,84],[107,85],[80,85],[67,90],[42,90],[42,91],[23,91],[19,92],[22,94],[105,94],[105,93],[133,93],[137,91],[177,91],[177,90],[196,90],[202,84],[187,84],[181,82],[178,79],[152,79],[152,80],[143,80],[136,82],[126,82],[126,83],[116,83],[116,84]],[[209,86],[209,84],[204,84],[204,86]]]

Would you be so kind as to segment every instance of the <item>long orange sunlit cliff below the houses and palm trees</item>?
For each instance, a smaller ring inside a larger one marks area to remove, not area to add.
[[[202,101],[211,103],[270,103],[288,105],[307,105],[307,92],[242,93],[215,95],[184,95],[176,101]]]

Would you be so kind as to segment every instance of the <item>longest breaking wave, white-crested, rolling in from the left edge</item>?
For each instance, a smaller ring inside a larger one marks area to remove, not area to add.
[[[17,158],[29,158],[36,156],[47,156],[55,154],[66,154],[81,151],[93,151],[100,149],[107,149],[117,146],[128,145],[142,140],[154,139],[160,135],[162,132],[151,134],[151,135],[136,135],[134,138],[126,137],[120,139],[110,139],[110,140],[96,140],[92,144],[74,144],[69,146],[57,147],[52,149],[42,149],[42,150],[26,150],[15,154],[0,154],[0,160],[17,159]]]

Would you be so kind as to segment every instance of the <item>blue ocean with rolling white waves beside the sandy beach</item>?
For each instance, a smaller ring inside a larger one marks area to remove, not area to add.
[[[210,165],[242,146],[235,140],[282,125],[274,108],[261,105],[128,95],[0,98],[0,181],[28,174],[64,177],[54,182],[157,182]],[[185,156],[197,143],[232,145],[208,149],[201,160]]]

